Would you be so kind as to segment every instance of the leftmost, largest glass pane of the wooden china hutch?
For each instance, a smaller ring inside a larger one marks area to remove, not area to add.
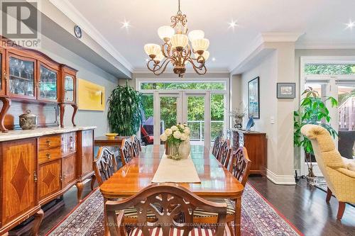
[[[10,57],[9,68],[11,94],[34,96],[34,62]]]

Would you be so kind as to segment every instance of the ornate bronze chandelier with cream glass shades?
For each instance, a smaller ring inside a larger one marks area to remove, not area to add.
[[[148,69],[155,75],[163,74],[169,62],[173,64],[173,71],[179,77],[186,72],[186,64],[190,62],[197,74],[206,74],[204,62],[209,57],[207,48],[209,40],[204,38],[202,30],[192,30],[187,35],[187,18],[180,11],[178,0],[178,13],[172,16],[171,26],[158,28],[159,38],[164,41],[162,45],[148,43],[144,45],[146,54],[151,58],[147,62]],[[189,40],[192,46],[189,44]]]

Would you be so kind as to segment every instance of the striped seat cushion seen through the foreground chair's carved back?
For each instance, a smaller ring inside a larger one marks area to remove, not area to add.
[[[228,227],[225,229],[224,235],[229,235],[229,230]],[[149,230],[150,235],[153,236],[163,236],[163,230],[161,230],[160,227],[155,227],[152,230]],[[179,230],[177,228],[171,228],[170,229],[170,236],[182,236],[184,233],[184,230]],[[137,227],[131,230],[129,232],[129,236],[141,236],[143,235],[143,232],[139,230]],[[197,228],[195,227],[193,230],[190,231],[191,236],[213,236],[214,235],[214,230],[211,229],[202,229],[202,228]]]

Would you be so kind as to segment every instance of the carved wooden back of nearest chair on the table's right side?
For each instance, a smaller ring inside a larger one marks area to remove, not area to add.
[[[249,177],[251,160],[248,157],[248,152],[245,147],[239,147],[231,154],[231,164],[229,172],[245,187]]]

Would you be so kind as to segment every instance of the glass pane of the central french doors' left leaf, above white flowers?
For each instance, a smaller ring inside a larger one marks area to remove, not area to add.
[[[160,96],[160,133],[178,123],[178,97]]]

